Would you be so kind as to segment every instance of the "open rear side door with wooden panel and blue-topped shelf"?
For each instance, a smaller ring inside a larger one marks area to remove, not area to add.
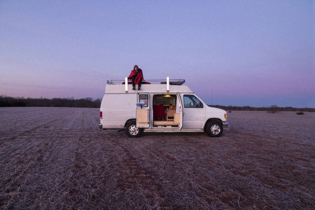
[[[147,93],[137,94],[137,102],[141,105],[136,107],[136,127],[149,128],[150,127],[150,95]]]

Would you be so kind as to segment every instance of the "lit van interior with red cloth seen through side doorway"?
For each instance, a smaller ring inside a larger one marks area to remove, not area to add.
[[[176,116],[176,95],[153,95],[153,126],[154,127],[178,127],[179,114]]]

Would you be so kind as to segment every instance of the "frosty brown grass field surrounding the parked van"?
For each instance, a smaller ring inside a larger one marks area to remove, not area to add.
[[[314,209],[315,113],[205,133],[100,130],[99,109],[0,108],[0,209]]]

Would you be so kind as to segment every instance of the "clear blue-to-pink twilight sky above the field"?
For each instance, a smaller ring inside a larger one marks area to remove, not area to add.
[[[0,95],[102,98],[137,64],[207,104],[315,108],[314,4],[1,0]]]

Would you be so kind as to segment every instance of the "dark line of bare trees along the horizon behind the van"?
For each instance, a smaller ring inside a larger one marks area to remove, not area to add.
[[[24,98],[24,97],[10,97],[0,95],[0,107],[12,107],[12,106],[43,106],[43,107],[85,107],[85,108],[100,108],[102,99],[84,98],[74,99],[72,98]],[[315,112],[315,108],[294,108],[278,107],[272,105],[270,107],[250,107],[250,106],[222,106],[212,105],[212,107],[220,108],[226,111],[307,111]]]

